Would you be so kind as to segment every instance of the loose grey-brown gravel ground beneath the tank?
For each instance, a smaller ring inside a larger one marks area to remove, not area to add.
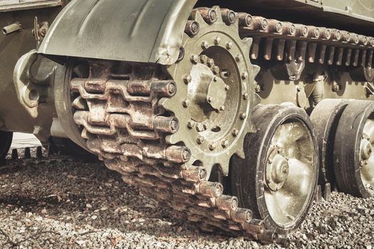
[[[21,154],[21,153],[20,153]],[[0,167],[1,248],[280,248],[201,233],[100,163],[18,159]],[[315,203],[292,248],[374,248],[374,198]]]

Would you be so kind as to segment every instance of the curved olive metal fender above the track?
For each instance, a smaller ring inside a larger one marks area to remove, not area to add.
[[[175,63],[197,0],[73,0],[38,53],[141,63]]]

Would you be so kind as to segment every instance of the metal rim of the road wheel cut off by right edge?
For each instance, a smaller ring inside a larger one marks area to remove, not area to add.
[[[360,143],[360,176],[365,189],[374,193],[374,120],[368,118]]]

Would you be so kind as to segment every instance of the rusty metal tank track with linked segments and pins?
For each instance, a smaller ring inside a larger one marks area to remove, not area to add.
[[[253,60],[260,53],[271,60],[274,51],[276,60],[284,60],[288,49],[289,60],[297,56],[298,60],[313,63],[318,57],[318,63],[323,64],[328,51],[329,65],[372,65],[373,38],[244,13],[237,16],[241,38],[254,38],[250,54]],[[262,42],[266,46],[261,52]],[[185,168],[184,162],[190,157],[187,147],[167,145],[167,135],[176,132],[179,124],[165,115],[159,101],[175,93],[175,83],[160,77],[157,65],[130,63],[131,73],[115,74],[112,62],[91,63],[103,73],[91,72],[90,78],[71,80],[74,120],[88,148],[108,168],[120,172],[126,183],[138,186],[143,194],[166,204],[175,216],[195,223],[203,231],[218,229],[232,235],[251,235],[265,243],[289,244],[287,238],[267,231],[263,221],[252,218],[249,209],[239,208],[237,197],[224,195],[222,184],[206,181],[202,166]]]

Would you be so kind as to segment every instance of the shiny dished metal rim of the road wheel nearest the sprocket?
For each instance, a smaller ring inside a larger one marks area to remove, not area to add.
[[[266,156],[264,198],[279,226],[291,226],[308,208],[313,194],[314,144],[301,120],[286,120],[276,128]]]

